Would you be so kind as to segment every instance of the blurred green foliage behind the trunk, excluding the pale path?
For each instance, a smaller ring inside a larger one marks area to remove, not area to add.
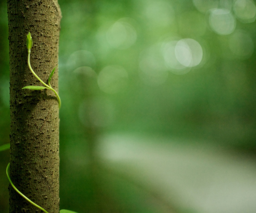
[[[105,134],[180,138],[255,156],[254,2],[59,0],[59,5],[61,208],[170,211],[158,196],[102,169],[96,150]],[[2,145],[9,142],[10,122],[5,1],[0,11]],[[0,153],[3,213],[9,211],[7,152]]]

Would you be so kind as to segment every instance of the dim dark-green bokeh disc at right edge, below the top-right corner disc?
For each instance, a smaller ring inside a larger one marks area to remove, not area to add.
[[[254,43],[250,35],[243,30],[237,30],[231,35],[229,47],[234,55],[241,59],[250,58],[254,51]]]

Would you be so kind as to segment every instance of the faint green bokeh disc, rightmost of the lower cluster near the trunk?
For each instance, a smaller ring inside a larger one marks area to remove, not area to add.
[[[128,73],[119,65],[104,67],[98,76],[99,88],[106,93],[114,94],[125,88]]]

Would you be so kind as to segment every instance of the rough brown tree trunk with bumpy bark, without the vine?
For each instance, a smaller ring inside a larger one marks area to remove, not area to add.
[[[50,90],[27,64],[26,35],[31,32],[31,66],[47,83],[58,64],[61,11],[57,0],[8,0],[10,43],[10,178],[14,185],[49,213],[59,212],[59,110]],[[58,91],[58,68],[51,86]],[[10,212],[41,212],[9,186]]]

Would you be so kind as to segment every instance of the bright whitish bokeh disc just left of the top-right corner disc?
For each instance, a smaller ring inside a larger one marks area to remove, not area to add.
[[[228,35],[235,30],[236,21],[230,10],[211,10],[209,23],[213,31],[219,35]]]

